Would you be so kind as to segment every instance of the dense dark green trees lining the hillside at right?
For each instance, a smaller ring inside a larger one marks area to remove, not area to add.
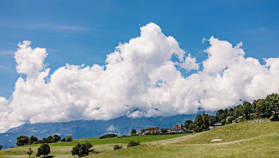
[[[273,114],[273,111],[276,112],[278,109],[279,95],[272,93],[267,95],[265,99],[257,99],[252,103],[246,101],[234,106],[234,108],[220,109],[216,112],[216,115],[208,115],[203,112],[201,115],[196,115],[194,121],[186,120],[184,125],[189,130],[202,132],[209,130],[209,126],[213,126],[216,123],[221,123],[222,125],[230,124],[240,116],[242,118],[239,121],[246,121],[253,118],[269,118],[271,121],[278,121],[278,114]],[[236,120],[236,123],[239,121]]]

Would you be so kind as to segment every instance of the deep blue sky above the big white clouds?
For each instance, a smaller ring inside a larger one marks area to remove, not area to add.
[[[103,65],[119,42],[150,22],[197,62],[206,58],[202,38],[211,36],[243,41],[246,57],[278,57],[278,8],[278,1],[0,1],[0,96],[8,99],[20,76],[13,55],[20,41],[46,48],[52,74],[66,63]]]

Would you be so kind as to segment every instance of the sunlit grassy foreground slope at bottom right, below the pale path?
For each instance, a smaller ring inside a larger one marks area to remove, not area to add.
[[[229,144],[141,145],[88,157],[278,157],[279,134],[267,134]]]

